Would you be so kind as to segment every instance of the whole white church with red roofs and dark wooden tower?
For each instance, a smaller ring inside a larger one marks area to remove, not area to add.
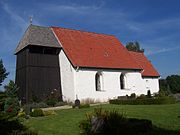
[[[159,91],[160,75],[147,57],[128,51],[114,35],[31,24],[15,55],[15,81],[26,103],[52,90],[72,102]]]

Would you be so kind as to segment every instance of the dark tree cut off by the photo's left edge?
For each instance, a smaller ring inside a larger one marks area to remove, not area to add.
[[[6,72],[6,69],[3,65],[2,59],[0,60],[0,86],[2,85],[2,82],[7,78],[8,72]]]

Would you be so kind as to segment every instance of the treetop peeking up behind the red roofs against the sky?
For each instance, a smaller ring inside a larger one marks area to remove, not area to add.
[[[126,48],[128,49],[128,51],[144,52],[144,49],[140,48],[140,45],[138,42],[128,42],[126,44]]]

